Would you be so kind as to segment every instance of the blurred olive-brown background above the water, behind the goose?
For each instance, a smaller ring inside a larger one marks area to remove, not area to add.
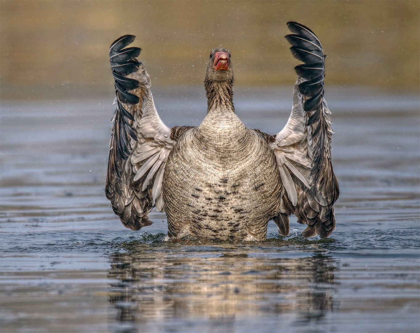
[[[287,21],[328,55],[326,83],[419,88],[418,1],[1,1],[2,98],[113,91],[108,48],[137,36],[156,87],[202,85],[210,50],[229,48],[237,86],[292,85]]]

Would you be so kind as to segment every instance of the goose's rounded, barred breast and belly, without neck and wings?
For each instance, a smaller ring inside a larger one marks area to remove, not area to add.
[[[281,207],[273,152],[226,106],[179,137],[163,188],[170,238],[264,240],[268,220]]]

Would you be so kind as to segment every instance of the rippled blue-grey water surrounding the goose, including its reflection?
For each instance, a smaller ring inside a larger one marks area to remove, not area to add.
[[[197,125],[202,90],[155,93]],[[165,215],[124,228],[105,198],[113,98],[1,103],[4,332],[418,332],[419,101],[328,90],[340,183],[331,238],[163,242]],[[290,89],[236,89],[239,117],[278,132]],[[76,319],[76,320],[75,320]]]

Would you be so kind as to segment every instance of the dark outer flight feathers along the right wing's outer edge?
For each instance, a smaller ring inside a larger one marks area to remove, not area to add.
[[[302,235],[328,237],[335,228],[333,203],[339,196],[339,187],[331,164],[331,127],[327,124],[328,111],[324,95],[325,56],[318,37],[306,26],[288,22],[294,34],[285,38],[292,45],[292,55],[304,64],[295,67],[299,76],[298,90],[307,114],[312,139],[312,164],[309,190],[299,188],[295,215],[299,223],[308,227]],[[329,111],[328,111],[329,112]],[[329,118],[328,118],[329,119]]]

